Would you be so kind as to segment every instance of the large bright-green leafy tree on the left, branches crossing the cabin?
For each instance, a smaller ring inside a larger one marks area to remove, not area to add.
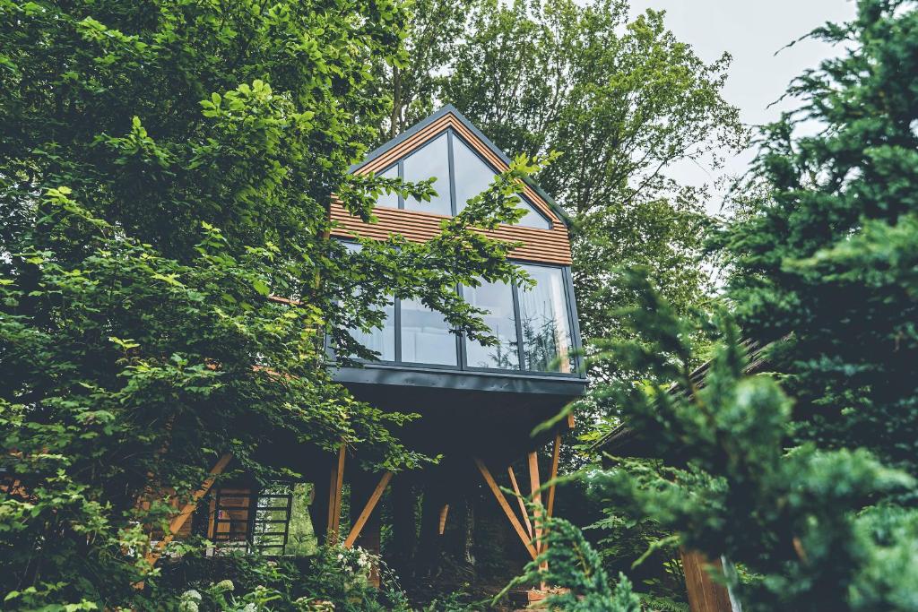
[[[6,607],[162,606],[151,531],[224,453],[263,482],[301,467],[285,444],[423,461],[388,430],[406,416],[330,382],[325,333],[365,355],[346,329],[399,295],[480,334],[452,287],[517,273],[472,228],[517,219],[539,166],[427,244],[328,239],[332,194],[365,218],[383,190],[431,194],[348,172],[404,21],[386,0],[0,2]]]

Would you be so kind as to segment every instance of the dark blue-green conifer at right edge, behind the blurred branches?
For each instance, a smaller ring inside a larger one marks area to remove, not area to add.
[[[859,3],[814,36],[847,49],[790,90],[767,129],[767,186],[717,239],[744,333],[788,336],[771,367],[796,401],[798,440],[865,447],[918,474],[918,6]],[[817,133],[797,137],[800,121]],[[812,124],[811,124],[812,125]]]

